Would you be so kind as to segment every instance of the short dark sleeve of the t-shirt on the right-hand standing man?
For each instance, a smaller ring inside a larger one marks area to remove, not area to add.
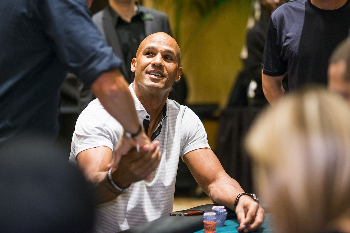
[[[278,30],[270,18],[267,26],[267,35],[264,47],[264,53],[262,54],[262,73],[269,76],[280,76],[286,73],[287,63],[282,60],[280,56],[280,49],[282,43],[279,41]]]

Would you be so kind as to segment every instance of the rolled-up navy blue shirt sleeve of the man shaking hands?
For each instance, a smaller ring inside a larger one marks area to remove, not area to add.
[[[37,14],[44,33],[54,41],[54,50],[67,69],[90,86],[103,72],[122,61],[107,46],[92,22],[86,0],[37,1]]]

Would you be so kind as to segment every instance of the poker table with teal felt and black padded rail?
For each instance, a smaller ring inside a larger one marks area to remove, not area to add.
[[[205,212],[212,212],[211,207],[215,204],[201,205],[193,207],[191,209],[204,210]],[[217,227],[217,233],[235,233],[238,232],[237,228],[239,223],[237,221],[236,213],[226,208],[227,218],[225,226]],[[270,214],[266,214],[264,224],[254,232],[259,233],[272,233],[273,230],[269,227]],[[132,227],[128,230],[122,231],[123,233],[203,233],[203,215],[197,216],[163,216],[148,223]]]

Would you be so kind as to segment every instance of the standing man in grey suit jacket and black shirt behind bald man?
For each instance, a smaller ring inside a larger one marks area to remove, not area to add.
[[[92,19],[107,44],[123,60],[120,71],[128,83],[134,80],[134,73],[130,70],[131,60],[135,57],[141,41],[155,32],[166,32],[172,36],[165,13],[141,6],[134,0],[109,0],[109,5],[97,12]],[[174,83],[169,99],[184,104],[186,95],[186,83],[182,77],[179,82]],[[78,111],[84,110],[94,98],[90,88],[80,83]]]

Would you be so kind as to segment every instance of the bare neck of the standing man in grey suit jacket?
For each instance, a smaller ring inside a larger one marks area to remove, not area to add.
[[[119,17],[126,22],[131,22],[137,13],[137,5],[133,0],[109,0],[109,5],[115,10]]]

